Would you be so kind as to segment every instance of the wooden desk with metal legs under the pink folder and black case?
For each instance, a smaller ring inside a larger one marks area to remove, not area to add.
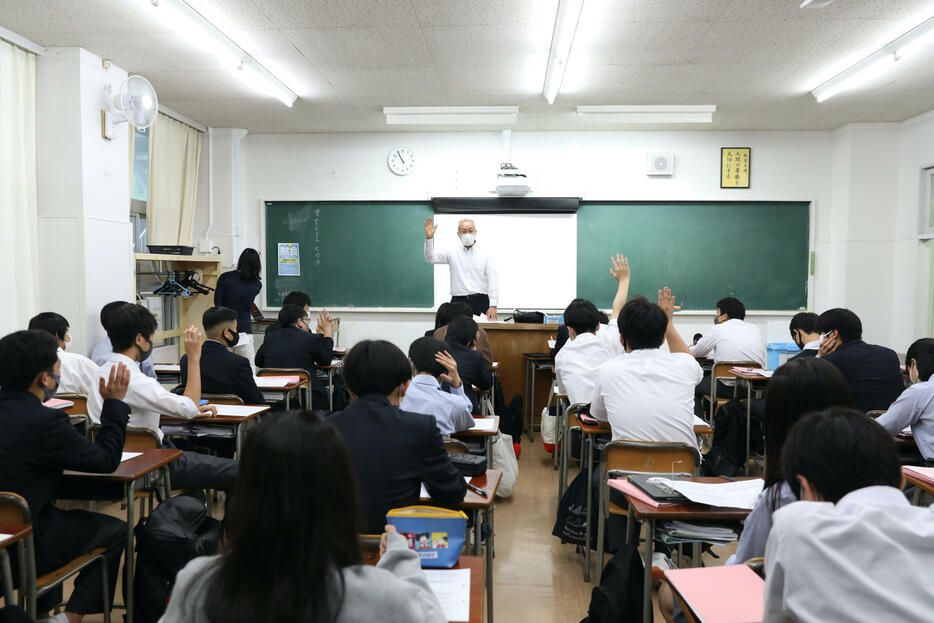
[[[729,482],[720,477],[693,477],[684,480],[694,482]],[[742,478],[741,480],[747,480]],[[652,621],[652,549],[655,540],[655,522],[656,521],[743,521],[749,515],[749,510],[743,508],[720,508],[718,506],[708,506],[706,504],[677,504],[662,508],[654,508],[637,498],[628,494],[626,501],[629,503],[629,515],[626,520],[626,542],[632,541],[634,524],[632,518],[635,517],[645,522],[645,576],[643,578],[644,588],[642,596],[642,620],[644,623]]]

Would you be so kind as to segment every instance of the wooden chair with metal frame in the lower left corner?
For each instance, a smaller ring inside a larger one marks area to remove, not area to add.
[[[15,493],[0,492],[0,523],[32,524],[29,513],[29,504]],[[25,610],[33,619],[36,618],[36,602],[56,586],[62,584],[73,575],[78,574],[85,567],[95,562],[101,566],[104,603],[110,603],[110,591],[107,586],[107,559],[104,558],[106,550],[98,547],[83,556],[78,556],[71,562],[36,577],[36,550],[33,536],[30,534],[23,541],[17,543],[17,559],[19,560],[20,576],[20,605],[25,601]],[[127,552],[130,554],[130,552]],[[110,623],[110,611],[104,609],[104,623]]]

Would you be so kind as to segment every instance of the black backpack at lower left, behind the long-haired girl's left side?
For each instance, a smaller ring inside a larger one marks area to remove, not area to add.
[[[156,623],[165,613],[175,574],[197,556],[217,553],[221,522],[190,495],[165,500],[136,524],[134,621]]]

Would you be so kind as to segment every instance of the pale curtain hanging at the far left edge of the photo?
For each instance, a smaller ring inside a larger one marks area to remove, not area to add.
[[[36,56],[0,40],[0,336],[38,308]]]

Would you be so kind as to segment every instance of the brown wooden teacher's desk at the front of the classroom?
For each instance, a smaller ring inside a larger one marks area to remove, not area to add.
[[[493,359],[499,362],[499,382],[503,386],[503,400],[506,404],[515,394],[522,396],[522,410],[526,413],[531,406],[533,409],[532,423],[535,415],[541,413],[542,407],[548,403],[548,394],[551,391],[550,372],[536,371],[541,375],[535,384],[535,400],[529,405],[530,398],[525,395],[525,361],[522,353],[545,353],[548,340],[554,339],[558,333],[556,324],[536,324],[530,322],[481,322],[480,327],[486,331],[493,350]],[[548,378],[545,378],[545,376]],[[497,414],[500,415],[500,414]],[[518,441],[518,440],[516,440]]]

